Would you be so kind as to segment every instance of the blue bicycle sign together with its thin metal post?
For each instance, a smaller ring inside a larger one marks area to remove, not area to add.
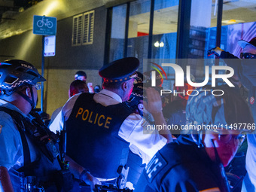
[[[45,35],[56,35],[56,17],[34,15],[33,33],[42,35],[41,76],[44,77],[44,39]],[[55,52],[54,52],[55,55]],[[52,56],[54,56],[52,55]],[[41,111],[44,111],[44,82],[41,82]]]

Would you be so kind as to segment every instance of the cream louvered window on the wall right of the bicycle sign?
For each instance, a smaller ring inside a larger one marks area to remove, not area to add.
[[[72,46],[93,44],[94,11],[73,17]]]

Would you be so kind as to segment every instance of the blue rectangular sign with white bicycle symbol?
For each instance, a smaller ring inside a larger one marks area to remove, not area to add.
[[[56,35],[56,17],[34,15],[33,33],[36,35]]]

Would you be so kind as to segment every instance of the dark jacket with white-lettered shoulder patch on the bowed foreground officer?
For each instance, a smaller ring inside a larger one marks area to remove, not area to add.
[[[152,158],[135,192],[225,191],[224,179],[220,166],[210,160],[204,148],[198,148],[189,136],[182,135]]]

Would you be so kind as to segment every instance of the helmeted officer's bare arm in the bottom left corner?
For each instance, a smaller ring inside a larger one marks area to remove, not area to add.
[[[8,169],[5,166],[0,166],[0,191],[14,192]]]

